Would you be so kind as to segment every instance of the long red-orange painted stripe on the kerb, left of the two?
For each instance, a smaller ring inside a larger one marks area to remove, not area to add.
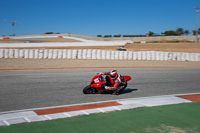
[[[53,109],[42,109],[42,110],[35,110],[34,112],[38,115],[48,115],[48,114],[87,110],[87,109],[96,109],[96,108],[111,107],[111,106],[118,106],[118,105],[122,105],[122,104],[118,102],[107,102],[107,103],[96,103],[96,104],[60,107],[60,108],[53,108]]]

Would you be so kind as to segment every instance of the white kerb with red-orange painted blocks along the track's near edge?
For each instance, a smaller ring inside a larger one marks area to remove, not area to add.
[[[200,102],[200,93],[174,94],[152,97],[119,99],[100,101],[76,105],[63,105],[54,107],[35,108],[0,112],[0,126],[10,126],[18,123],[30,123],[58,118],[67,118],[92,113],[105,113],[134,109],[139,107],[153,107],[161,105]]]

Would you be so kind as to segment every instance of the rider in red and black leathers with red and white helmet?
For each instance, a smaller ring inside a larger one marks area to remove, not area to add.
[[[121,78],[120,75],[118,75],[117,70],[112,70],[110,72],[110,75],[108,75],[108,77],[111,80],[111,86],[105,86],[105,89],[114,90],[114,93],[118,94],[119,90],[121,89],[121,87],[118,87],[119,84],[121,83]]]

